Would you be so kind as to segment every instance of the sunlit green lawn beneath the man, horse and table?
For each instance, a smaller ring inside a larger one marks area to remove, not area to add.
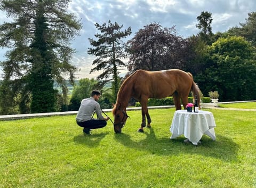
[[[174,109],[149,110],[145,133],[140,111],[122,134],[108,121],[84,136],[75,116],[0,121],[0,187],[256,187],[255,112],[207,111],[217,140],[198,146],[170,140]]]

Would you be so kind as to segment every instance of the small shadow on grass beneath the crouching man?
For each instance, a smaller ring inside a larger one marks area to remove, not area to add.
[[[91,148],[98,146],[100,141],[107,135],[108,133],[98,133],[93,135],[77,135],[74,137],[74,142],[77,144],[84,144],[90,146]]]

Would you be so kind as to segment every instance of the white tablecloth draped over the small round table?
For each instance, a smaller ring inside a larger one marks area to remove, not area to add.
[[[197,145],[203,134],[215,140],[214,128],[216,127],[212,112],[199,110],[198,113],[177,110],[172,119],[170,131],[171,139],[184,135],[188,140]]]

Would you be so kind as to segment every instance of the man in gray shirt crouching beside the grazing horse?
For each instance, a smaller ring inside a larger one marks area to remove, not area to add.
[[[104,118],[101,114],[100,104],[97,102],[100,98],[100,92],[97,90],[92,91],[91,97],[83,99],[79,107],[76,123],[77,125],[84,127],[83,132],[90,134],[90,129],[102,128],[107,125],[109,117]],[[93,119],[92,115],[94,111],[97,114],[98,119]]]

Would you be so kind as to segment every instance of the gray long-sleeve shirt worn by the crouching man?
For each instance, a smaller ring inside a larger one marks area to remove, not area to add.
[[[101,114],[100,104],[90,97],[88,99],[83,99],[79,107],[76,120],[78,122],[87,121],[92,119],[93,112],[96,112],[98,119],[104,120],[104,117]]]

